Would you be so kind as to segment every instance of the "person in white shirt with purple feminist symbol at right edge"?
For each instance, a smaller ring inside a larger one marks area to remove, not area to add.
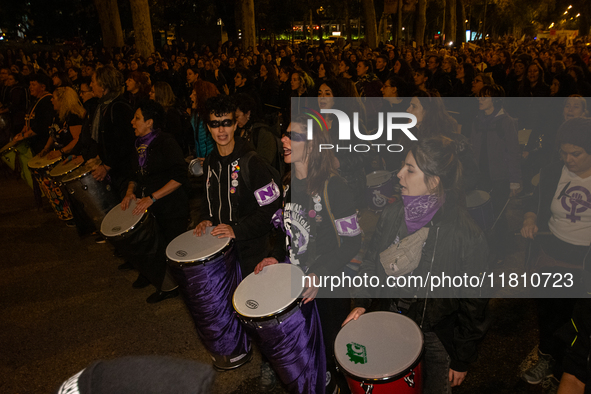
[[[530,248],[541,250],[527,257],[532,272],[573,275],[572,289],[589,292],[591,266],[591,119],[572,118],[558,130],[562,162],[540,171],[540,182],[524,215],[521,235],[535,239]],[[543,233],[543,234],[541,234]],[[561,290],[564,291],[564,290]],[[582,293],[574,296],[583,297]],[[522,379],[538,384],[551,373],[560,372],[564,350],[554,333],[570,321],[576,299],[537,298],[540,344],[538,361]],[[555,375],[557,376],[557,375]]]

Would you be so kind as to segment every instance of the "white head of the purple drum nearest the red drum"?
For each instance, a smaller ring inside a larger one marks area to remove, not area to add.
[[[250,318],[273,316],[300,297],[304,273],[293,264],[273,264],[248,275],[236,288],[232,303],[240,315]]]

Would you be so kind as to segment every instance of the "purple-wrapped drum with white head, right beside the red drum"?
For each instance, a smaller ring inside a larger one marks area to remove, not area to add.
[[[248,275],[233,298],[246,331],[290,393],[323,393],[326,356],[316,302],[302,304],[304,273],[292,264]]]

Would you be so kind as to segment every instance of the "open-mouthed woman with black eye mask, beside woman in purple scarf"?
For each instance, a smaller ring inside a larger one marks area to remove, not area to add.
[[[346,287],[331,291],[313,284],[319,283],[319,277],[340,277],[359,251],[362,237],[354,195],[345,180],[338,176],[332,151],[318,150],[320,144],[329,143],[330,136],[314,127],[313,140],[308,141],[308,119],[298,116],[282,138],[285,162],[292,165],[292,175],[295,175],[286,190],[282,224],[286,231],[288,261],[299,265],[310,280],[306,283],[312,284],[302,297],[304,303],[316,299],[318,305],[330,373],[326,392],[332,393],[337,383],[341,390],[347,387],[336,372],[333,343],[340,322],[349,313],[350,293]],[[281,254],[274,251],[272,257],[261,261],[255,272],[279,260],[282,260]]]

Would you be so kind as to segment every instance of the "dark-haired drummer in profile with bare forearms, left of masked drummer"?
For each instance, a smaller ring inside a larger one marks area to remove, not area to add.
[[[165,249],[187,229],[189,198],[183,188],[188,182],[187,164],[174,137],[161,132],[164,108],[160,104],[152,100],[140,101],[131,123],[138,137],[137,160],[121,209],[127,210],[130,202],[136,201],[133,213],[141,215],[149,209],[162,232],[164,242],[156,254],[136,264],[140,274],[134,287],[153,284],[158,291],[147,299],[153,304],[179,294],[176,282],[166,269]]]

